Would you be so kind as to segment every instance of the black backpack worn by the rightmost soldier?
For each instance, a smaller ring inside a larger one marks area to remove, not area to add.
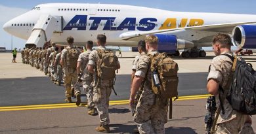
[[[228,91],[226,99],[232,108],[243,114],[256,114],[256,73],[251,63],[243,58],[237,59],[228,56],[236,62],[232,78],[232,88]]]

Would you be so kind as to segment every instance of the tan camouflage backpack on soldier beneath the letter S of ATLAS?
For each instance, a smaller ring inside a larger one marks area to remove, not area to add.
[[[111,50],[97,49],[98,63],[97,76],[100,80],[114,80],[116,78],[115,71],[117,70],[118,58]]]

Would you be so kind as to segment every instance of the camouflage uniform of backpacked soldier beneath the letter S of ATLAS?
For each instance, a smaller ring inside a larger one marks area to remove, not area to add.
[[[106,47],[98,46],[98,49],[105,50]],[[89,56],[88,65],[97,67],[98,52],[93,50]],[[96,69],[95,69],[96,70]],[[106,126],[110,124],[110,118],[108,115],[108,106],[110,101],[110,94],[112,91],[113,80],[100,80],[94,73],[95,80],[93,81],[93,102],[98,110],[98,116],[100,117],[100,124]]]

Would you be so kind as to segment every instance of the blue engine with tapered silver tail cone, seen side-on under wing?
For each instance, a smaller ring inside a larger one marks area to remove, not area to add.
[[[177,39],[174,35],[156,34],[158,37],[158,52],[175,53],[177,50],[193,48],[194,43]]]

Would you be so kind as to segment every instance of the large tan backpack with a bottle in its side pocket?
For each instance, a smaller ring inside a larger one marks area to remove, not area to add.
[[[166,53],[157,53],[151,58],[150,71],[152,74],[152,90],[161,99],[169,99],[178,96],[177,76],[178,64],[167,56]]]

